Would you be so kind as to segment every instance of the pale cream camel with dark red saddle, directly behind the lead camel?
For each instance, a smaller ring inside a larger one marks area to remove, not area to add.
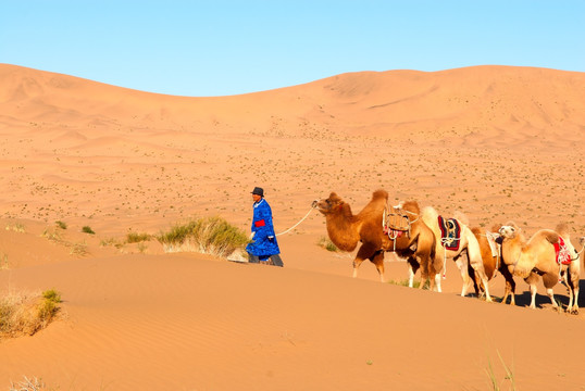
[[[480,249],[480,243],[477,242],[477,239],[475,238],[471,229],[465,224],[463,224],[460,218],[452,218],[450,220],[457,223],[457,226],[460,230],[460,237],[459,239],[452,239],[450,243],[444,243],[441,227],[439,226],[439,214],[433,206],[426,206],[423,209],[422,219],[428,226],[428,228],[433,230],[433,234],[435,235],[435,257],[438,257],[438,260],[443,260],[443,266],[434,270],[435,280],[440,281],[440,272],[445,268],[445,263],[447,262],[447,258],[453,260],[457,263],[457,266],[459,267],[459,272],[461,274],[461,278],[463,279],[461,297],[466,295],[470,285],[473,283],[473,280],[470,278],[468,272],[468,267],[471,267],[473,268],[475,274],[477,274],[480,280],[485,288],[485,300],[491,302],[491,297],[489,295],[489,288],[487,285],[488,279],[485,274],[484,263],[482,260],[482,251]],[[462,256],[464,253],[466,253],[466,257]]]

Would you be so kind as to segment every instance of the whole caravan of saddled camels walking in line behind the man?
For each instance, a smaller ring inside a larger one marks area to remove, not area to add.
[[[441,291],[447,262],[456,262],[463,286],[461,297],[471,286],[478,298],[491,302],[488,282],[501,274],[506,280],[502,303],[515,305],[514,277],[530,286],[531,308],[535,308],[536,283],[543,279],[552,306],[558,307],[552,294],[557,283],[569,291],[568,312],[578,313],[578,283],[581,253],[585,248],[582,237],[577,251],[567,225],[555,230],[542,229],[526,240],[514,224],[495,225],[490,230],[469,227],[465,216],[446,218],[432,206],[421,210],[416,201],[388,204],[388,192],[376,190],[363,210],[353,214],[350,205],[335,192],[319,200],[314,206],[325,216],[327,235],[343,251],[360,248],[353,260],[353,277],[363,261],[370,260],[384,282],[384,254],[394,252],[407,261],[409,287],[418,270],[421,285]]]

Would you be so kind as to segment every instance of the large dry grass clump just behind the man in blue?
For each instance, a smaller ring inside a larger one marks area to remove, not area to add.
[[[157,239],[165,252],[195,251],[222,257],[248,243],[246,234],[222,217],[204,217],[175,225]]]

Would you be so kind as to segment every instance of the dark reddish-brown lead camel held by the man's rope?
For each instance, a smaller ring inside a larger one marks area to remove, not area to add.
[[[329,239],[337,248],[353,251],[358,242],[362,243],[353,260],[353,278],[358,277],[361,263],[370,260],[384,282],[385,251],[396,251],[399,256],[407,257],[412,268],[422,266],[426,269],[433,257],[434,236],[420,219],[410,226],[410,235],[397,240],[393,241],[384,234],[383,219],[387,201],[388,192],[376,190],[370,203],[357,215],[351,213],[350,205],[335,192],[316,202],[316,207],[325,216]],[[411,209],[411,213],[418,213],[418,204],[408,204],[406,207]],[[412,266],[414,263],[416,266]]]

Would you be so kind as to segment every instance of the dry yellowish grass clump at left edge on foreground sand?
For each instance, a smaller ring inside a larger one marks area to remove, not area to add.
[[[0,340],[32,336],[54,319],[61,294],[54,289],[33,293],[12,293],[0,299]]]

